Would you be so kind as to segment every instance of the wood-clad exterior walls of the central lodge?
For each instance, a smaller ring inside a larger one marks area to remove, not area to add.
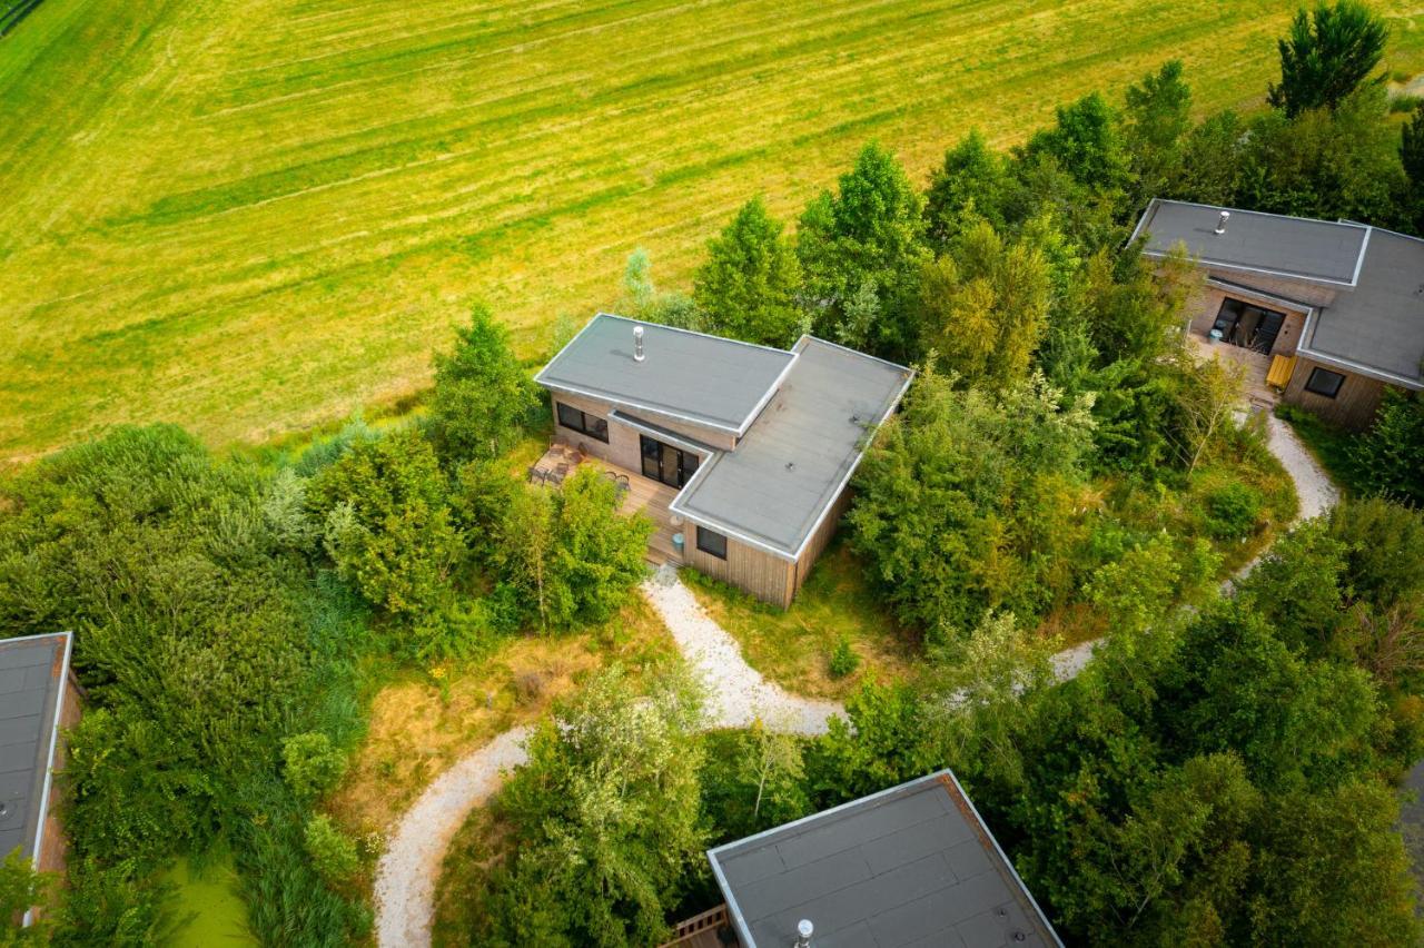
[[[560,441],[581,447],[585,453],[602,458],[604,461],[627,471],[632,471],[635,475],[641,477],[641,433],[612,417],[611,413],[615,406],[607,401],[598,401],[597,399],[571,396],[560,391],[553,391],[551,396],[554,404],[554,431]],[[608,443],[605,444],[584,434],[582,431],[565,428],[560,424],[558,403],[564,403],[572,409],[578,409],[580,411],[605,418],[608,421]],[[661,416],[652,416],[651,413],[638,414],[637,411],[629,411],[629,414],[671,431],[684,434],[685,437],[703,444],[729,448],[735,443],[735,440],[732,440],[726,433],[719,433],[712,428],[676,424]],[[722,582],[738,586],[739,589],[745,589],[758,599],[785,609],[790,605],[796,591],[800,589],[802,584],[806,581],[806,575],[810,572],[812,564],[816,562],[816,558],[820,557],[820,554],[826,549],[826,545],[830,542],[830,538],[834,535],[836,525],[846,512],[849,500],[850,491],[846,490],[836,500],[830,514],[827,514],[826,520],[820,524],[820,527],[817,527],[810,544],[807,544],[806,549],[796,561],[778,557],[776,554],[768,552],[759,547],[739,541],[736,537],[726,538],[726,559],[721,559],[712,554],[698,549],[696,524],[688,521],[682,527],[682,562],[692,567],[698,572],[706,574],[713,579],[721,579]]]

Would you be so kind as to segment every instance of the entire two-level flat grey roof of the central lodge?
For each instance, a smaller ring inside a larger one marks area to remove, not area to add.
[[[692,443],[709,457],[671,510],[796,559],[911,376],[810,336],[783,352],[600,313],[535,381],[621,406],[614,418],[654,433],[656,414],[740,431],[731,451]]]

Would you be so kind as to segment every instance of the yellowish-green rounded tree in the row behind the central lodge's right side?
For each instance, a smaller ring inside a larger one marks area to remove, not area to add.
[[[1048,262],[1027,241],[970,225],[920,279],[923,349],[965,384],[997,391],[1022,381],[1052,302]]]

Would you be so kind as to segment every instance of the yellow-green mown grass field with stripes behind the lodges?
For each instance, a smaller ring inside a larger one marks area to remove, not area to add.
[[[870,138],[923,179],[1168,57],[1203,111],[1257,100],[1293,6],[44,0],[0,40],[0,458],[389,403],[477,297],[535,354],[635,246],[684,285]],[[1381,9],[1418,71],[1424,10]]]

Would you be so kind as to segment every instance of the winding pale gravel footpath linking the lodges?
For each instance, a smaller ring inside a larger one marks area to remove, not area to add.
[[[1267,446],[1296,483],[1300,518],[1319,517],[1340,498],[1320,465],[1290,427],[1267,418]],[[1257,559],[1235,578],[1250,572]],[[1230,579],[1226,581],[1227,586]],[[742,649],[712,621],[675,569],[661,568],[642,584],[642,595],[666,623],[684,658],[708,686],[708,720],[712,727],[746,727],[760,717],[769,727],[796,734],[823,734],[836,702],[797,697],[768,682],[746,663]],[[1078,675],[1092,659],[1094,642],[1064,649],[1054,656],[1062,679]],[[474,807],[498,789],[504,771],[524,763],[530,727],[507,730],[461,759],[431,783],[396,823],[376,867],[376,944],[382,948],[427,948],[434,918],[436,880],[450,840]]]

